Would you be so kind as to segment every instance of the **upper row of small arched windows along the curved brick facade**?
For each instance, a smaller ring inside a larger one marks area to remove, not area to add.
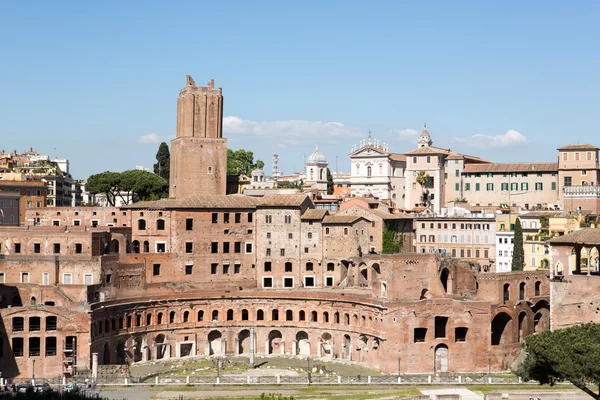
[[[117,318],[106,318],[93,324],[95,335],[102,335],[109,332],[116,332],[121,329],[129,329],[144,326],[155,326],[163,324],[179,323],[203,323],[203,322],[239,322],[239,321],[289,321],[289,322],[315,322],[326,324],[341,324],[346,326],[355,326],[363,328],[377,328],[379,326],[378,318],[372,315],[361,315],[358,313],[329,311],[318,312],[316,310],[294,311],[291,309],[263,310],[256,311],[242,309],[228,309],[224,318],[219,310],[184,310],[179,311],[158,311],[156,313],[131,313]]]

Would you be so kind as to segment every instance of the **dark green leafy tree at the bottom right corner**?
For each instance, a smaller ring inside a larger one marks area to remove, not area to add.
[[[577,325],[531,335],[525,340],[527,356],[517,369],[526,380],[554,384],[564,379],[594,399],[590,384],[600,384],[600,325]]]

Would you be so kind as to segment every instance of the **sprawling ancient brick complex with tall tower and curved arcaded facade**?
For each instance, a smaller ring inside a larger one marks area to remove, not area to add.
[[[31,209],[28,226],[0,230],[3,377],[72,376],[93,353],[103,365],[248,354],[251,341],[260,355],[384,373],[487,372],[508,369],[524,337],[548,328],[543,273],[380,254],[371,236],[384,225],[412,235],[410,219],[381,210],[226,196],[221,118],[221,90],[188,77],[169,199]],[[495,251],[487,220],[458,223],[481,225],[462,228],[471,258]]]

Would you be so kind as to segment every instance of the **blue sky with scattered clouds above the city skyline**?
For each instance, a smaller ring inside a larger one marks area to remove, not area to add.
[[[76,178],[151,167],[191,74],[225,96],[229,147],[336,169],[367,136],[498,162],[600,145],[600,2],[0,2],[0,149]]]

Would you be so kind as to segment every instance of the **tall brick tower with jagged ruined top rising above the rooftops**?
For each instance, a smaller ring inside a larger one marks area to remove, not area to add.
[[[177,137],[171,141],[169,197],[225,194],[227,139],[223,139],[223,94],[211,80],[196,86],[191,76],[177,99]]]

